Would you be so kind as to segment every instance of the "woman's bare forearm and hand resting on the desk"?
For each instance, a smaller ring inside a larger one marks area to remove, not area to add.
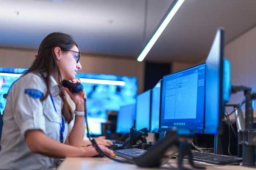
[[[25,141],[32,153],[39,153],[52,158],[65,157],[90,157],[98,155],[93,147],[77,148],[67,144],[62,144],[47,137],[41,130],[27,130]],[[103,151],[113,154],[111,150],[100,146]]]

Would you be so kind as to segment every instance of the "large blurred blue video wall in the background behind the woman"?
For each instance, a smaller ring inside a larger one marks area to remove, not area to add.
[[[8,92],[12,83],[26,70],[24,68],[0,68],[1,113],[6,105],[3,94]],[[87,94],[88,124],[90,132],[94,135],[101,135],[101,123],[106,122],[107,111],[118,112],[121,105],[136,102],[136,77],[85,73],[78,73],[76,77],[80,78]],[[89,83],[88,79],[97,79],[98,81]],[[107,81],[99,82],[99,80]],[[119,84],[115,84],[116,82]]]

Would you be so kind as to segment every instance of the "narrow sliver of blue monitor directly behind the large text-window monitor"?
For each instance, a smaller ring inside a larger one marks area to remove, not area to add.
[[[151,121],[150,132],[159,132],[159,116],[160,116],[160,93],[163,80],[159,80],[157,84],[152,88],[151,97]]]

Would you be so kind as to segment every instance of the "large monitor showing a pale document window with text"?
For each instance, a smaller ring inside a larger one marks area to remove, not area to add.
[[[163,77],[160,131],[204,130],[205,63]]]

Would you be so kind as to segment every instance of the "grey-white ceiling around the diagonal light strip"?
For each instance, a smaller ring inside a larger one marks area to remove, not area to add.
[[[137,59],[172,0],[0,0],[0,47],[38,49],[70,34],[84,54]],[[218,27],[228,43],[256,25],[256,0],[185,0],[146,60],[207,57]]]

